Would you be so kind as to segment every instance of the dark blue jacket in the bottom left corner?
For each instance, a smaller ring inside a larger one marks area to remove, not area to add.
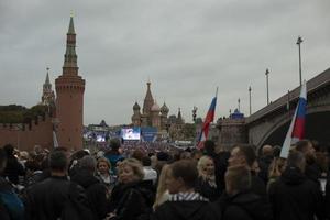
[[[24,219],[24,206],[11,184],[0,177],[0,219]]]

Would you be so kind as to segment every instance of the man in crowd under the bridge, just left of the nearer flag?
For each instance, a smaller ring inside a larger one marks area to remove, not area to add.
[[[261,151],[262,155],[258,157],[258,176],[264,180],[265,184],[268,182],[268,168],[273,162],[273,146],[264,145]]]

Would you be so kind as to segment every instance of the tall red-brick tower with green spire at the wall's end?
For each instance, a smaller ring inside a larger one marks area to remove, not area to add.
[[[57,139],[59,146],[82,148],[85,79],[78,76],[74,18],[67,32],[63,74],[55,80]]]

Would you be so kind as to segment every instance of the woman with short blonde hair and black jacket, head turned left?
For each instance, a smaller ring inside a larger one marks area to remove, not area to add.
[[[135,158],[118,165],[118,185],[110,198],[110,219],[140,219],[152,212],[154,194],[143,184],[143,166]]]

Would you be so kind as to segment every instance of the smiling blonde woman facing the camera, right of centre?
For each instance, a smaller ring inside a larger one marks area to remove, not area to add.
[[[215,162],[210,156],[202,156],[197,163],[197,191],[210,201],[220,197],[221,190],[216,183]]]

